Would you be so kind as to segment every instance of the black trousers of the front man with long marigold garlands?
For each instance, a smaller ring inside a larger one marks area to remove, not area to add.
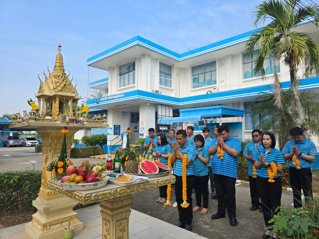
[[[178,216],[182,224],[191,225],[193,221],[193,199],[192,199],[192,185],[193,185],[193,175],[186,176],[186,195],[187,202],[189,206],[183,208],[181,204],[183,203],[183,181],[181,176],[176,176],[175,180],[175,197],[177,202]]]

